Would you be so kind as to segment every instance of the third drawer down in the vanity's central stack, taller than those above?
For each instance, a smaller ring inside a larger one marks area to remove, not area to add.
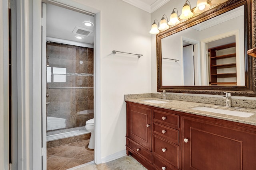
[[[153,153],[176,168],[179,166],[179,146],[153,135]]]

